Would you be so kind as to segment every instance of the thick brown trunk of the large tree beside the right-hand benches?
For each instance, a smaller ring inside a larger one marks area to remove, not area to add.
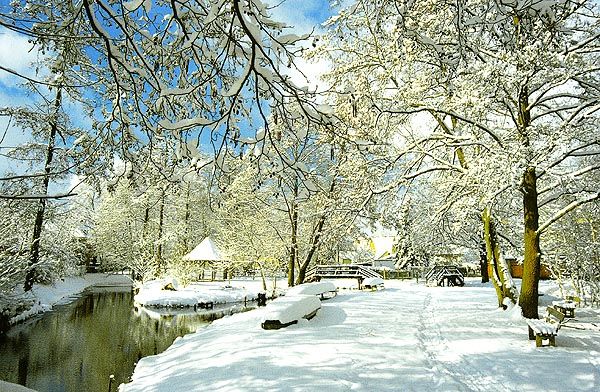
[[[538,283],[540,280],[539,211],[535,168],[528,167],[523,174],[523,217],[525,233],[523,281],[519,303],[526,318],[538,318]]]

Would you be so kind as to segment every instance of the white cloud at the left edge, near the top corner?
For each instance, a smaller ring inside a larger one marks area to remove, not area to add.
[[[27,76],[34,76],[31,63],[38,57],[38,50],[27,41],[27,37],[19,35],[4,27],[0,27],[0,65]],[[0,82],[13,82],[16,77],[0,70]]]

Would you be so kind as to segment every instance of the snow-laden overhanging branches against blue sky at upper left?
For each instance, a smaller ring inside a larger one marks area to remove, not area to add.
[[[289,76],[302,74],[294,61],[308,37],[269,14],[258,0],[15,0],[0,8],[0,22],[35,42],[85,48],[86,66],[70,66],[83,76],[82,96],[96,102],[90,133],[105,162],[135,161],[142,145],[169,137],[171,148],[211,144],[218,166],[240,144],[257,143],[248,123],[286,118],[291,103],[308,122],[331,123]]]

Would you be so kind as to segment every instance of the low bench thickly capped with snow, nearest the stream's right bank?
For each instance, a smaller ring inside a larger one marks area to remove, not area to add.
[[[310,320],[321,309],[321,301],[315,295],[286,295],[271,301],[265,308],[260,326],[263,329],[279,329],[297,324],[298,320]]]

